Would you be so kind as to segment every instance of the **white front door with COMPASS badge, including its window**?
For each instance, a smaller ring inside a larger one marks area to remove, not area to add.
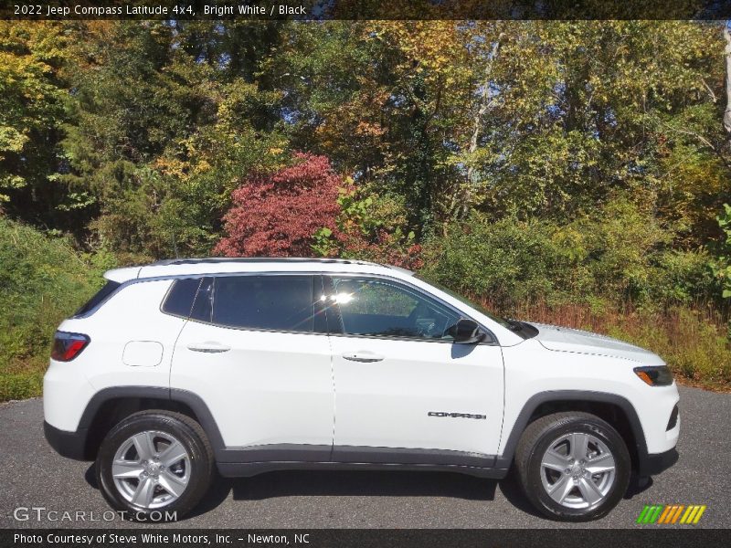
[[[461,312],[399,280],[327,280],[334,460],[492,466],[503,423],[500,347],[454,344],[447,331]]]

